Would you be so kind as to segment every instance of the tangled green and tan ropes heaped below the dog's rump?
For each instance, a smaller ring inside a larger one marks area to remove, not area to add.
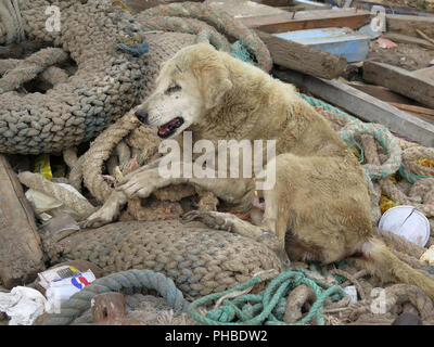
[[[328,272],[327,267],[321,271]],[[292,267],[271,279],[268,277],[267,287],[258,294],[248,292],[265,281],[261,275],[193,301],[189,313],[206,325],[390,325],[401,312],[420,316],[424,324],[434,322],[433,303],[417,286],[395,284],[374,288],[363,279],[366,275],[366,270],[350,274],[333,269],[326,278],[314,266],[310,270]],[[357,303],[352,303],[352,297],[343,291],[348,284],[357,288]],[[213,301],[216,303],[210,306]]]

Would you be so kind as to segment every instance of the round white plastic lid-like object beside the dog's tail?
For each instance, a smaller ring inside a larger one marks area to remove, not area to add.
[[[380,219],[379,228],[393,232],[424,247],[430,239],[430,222],[413,206],[396,206],[387,209]]]

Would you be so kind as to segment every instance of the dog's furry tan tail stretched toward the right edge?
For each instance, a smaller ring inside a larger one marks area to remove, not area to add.
[[[361,246],[362,256],[357,262],[383,282],[407,283],[420,287],[434,300],[434,280],[399,260],[383,243],[372,236]]]

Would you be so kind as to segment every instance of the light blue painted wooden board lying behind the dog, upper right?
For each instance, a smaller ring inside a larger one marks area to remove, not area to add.
[[[349,28],[320,28],[273,34],[285,40],[342,55],[348,63],[362,62],[369,52],[370,38]]]

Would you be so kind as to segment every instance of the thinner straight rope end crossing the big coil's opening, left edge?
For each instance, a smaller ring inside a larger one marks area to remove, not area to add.
[[[20,62],[0,79],[0,93],[16,90],[47,67],[64,62],[67,54],[60,48],[46,48]]]

